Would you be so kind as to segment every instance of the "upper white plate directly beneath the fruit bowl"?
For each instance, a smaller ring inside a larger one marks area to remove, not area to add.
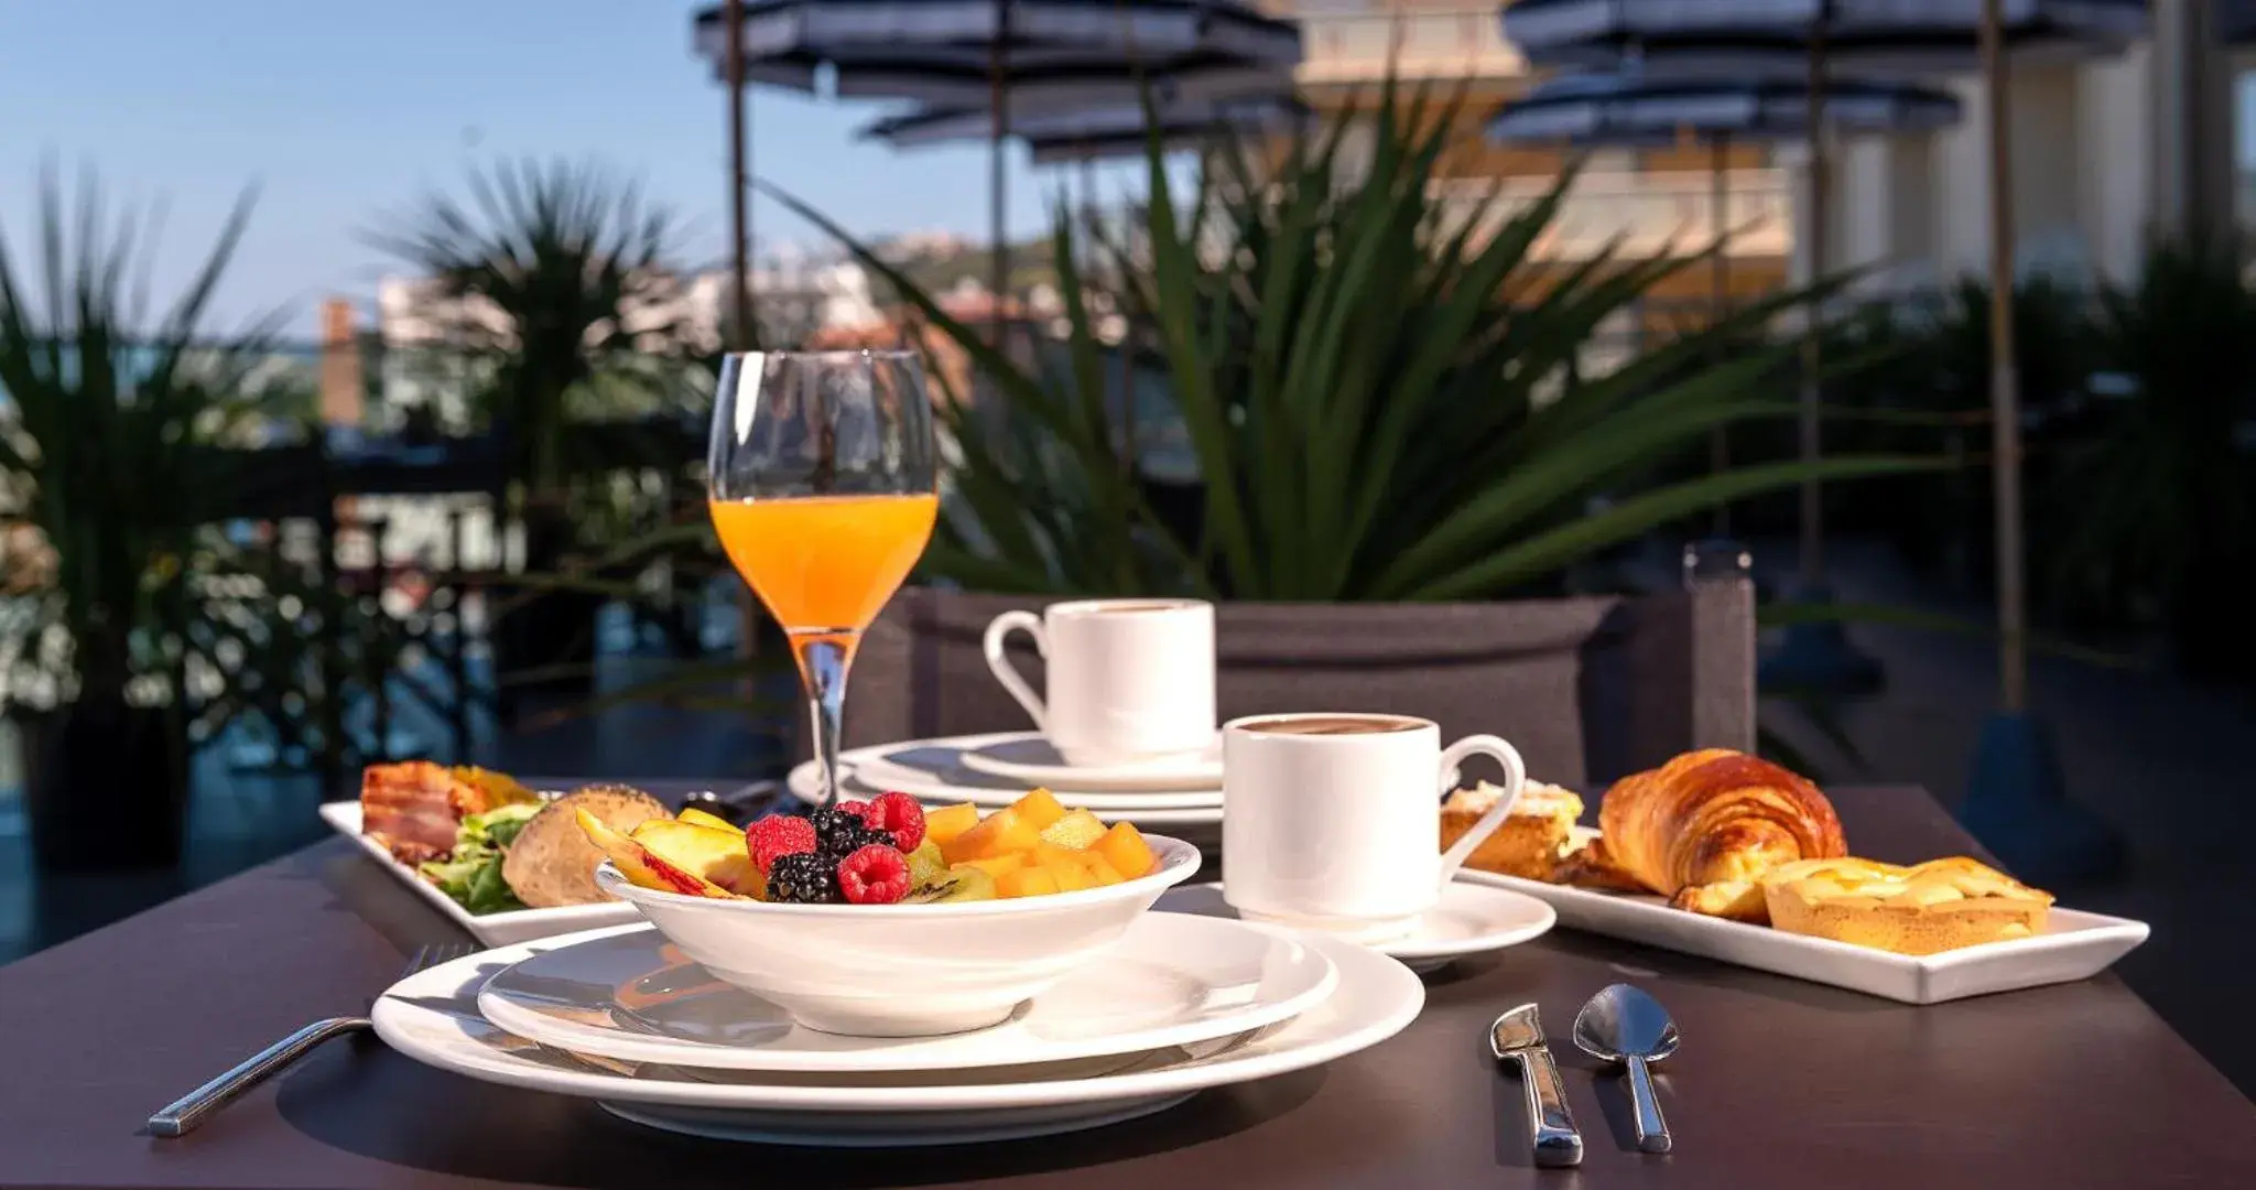
[[[1297,937],[1148,912],[1105,957],[1026,1000],[1002,1025],[923,1039],[839,1036],[796,1027],[781,1007],[713,980],[656,930],[636,930],[501,971],[478,991],[478,1012],[519,1036],[620,1061],[972,1070],[1214,1041],[1299,1016],[1338,980],[1331,960]],[[902,994],[914,996],[914,985]]]

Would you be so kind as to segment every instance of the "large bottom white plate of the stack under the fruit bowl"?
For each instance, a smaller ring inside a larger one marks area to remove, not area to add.
[[[625,926],[634,930],[638,926]],[[386,991],[370,1016],[402,1055],[483,1082],[600,1100],[627,1118],[704,1136],[790,1136],[830,1145],[936,1145],[1094,1127],[1209,1086],[1304,1070],[1376,1045],[1426,1005],[1403,964],[1360,946],[1308,939],[1340,973],[1331,998],[1293,1021],[1193,1050],[1155,1050],[1036,1068],[889,1075],[690,1075],[670,1066],[636,1077],[530,1050],[476,1014],[494,971],[557,944],[503,946],[420,971]]]

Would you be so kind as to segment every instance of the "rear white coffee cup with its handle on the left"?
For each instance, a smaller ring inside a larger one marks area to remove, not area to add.
[[[1033,637],[1047,702],[1011,668],[1011,632]],[[1211,603],[1090,598],[1051,603],[1040,616],[1004,612],[988,623],[986,659],[1067,763],[1173,761],[1214,747]]]

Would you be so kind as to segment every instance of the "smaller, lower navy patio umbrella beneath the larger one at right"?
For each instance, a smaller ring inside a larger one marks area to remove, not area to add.
[[[1726,226],[1726,167],[1733,145],[1807,140],[1812,117],[1834,133],[1913,133],[1958,122],[1958,99],[1945,90],[1891,81],[1827,79],[1812,104],[1809,79],[1794,77],[1651,77],[1640,68],[1613,75],[1563,75],[1496,111],[1489,138],[1505,145],[1570,142],[1584,147],[1645,147],[1676,140],[1710,149],[1710,212]],[[1717,246],[1710,262],[1710,325],[1730,300],[1730,257]],[[1728,463],[1724,431],[1715,431],[1715,467]],[[1717,513],[1717,533],[1728,515]]]

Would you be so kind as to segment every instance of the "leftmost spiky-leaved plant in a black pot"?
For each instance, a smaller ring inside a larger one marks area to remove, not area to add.
[[[77,215],[43,185],[29,246],[0,228],[0,682],[25,741],[43,867],[151,867],[180,851],[190,673],[205,659],[212,528],[259,411],[264,336],[205,343],[248,194],[190,285],[147,312],[149,226]],[[68,228],[68,230],[65,230]],[[221,632],[232,635],[232,632]]]

